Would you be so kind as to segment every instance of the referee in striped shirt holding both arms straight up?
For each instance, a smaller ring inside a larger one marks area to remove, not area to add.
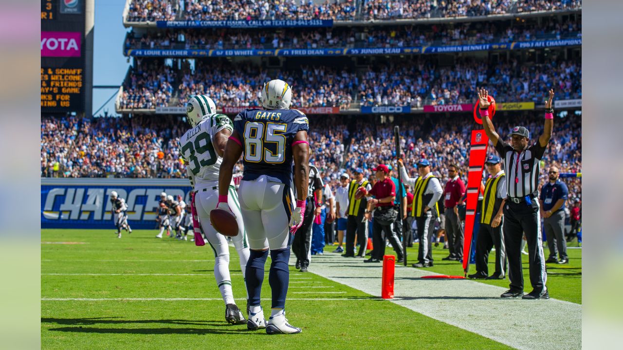
[[[478,92],[482,125],[489,140],[495,146],[500,157],[504,159],[506,173],[506,189],[508,197],[504,205],[504,241],[508,257],[508,280],[510,288],[502,298],[548,299],[549,293],[545,283],[545,254],[543,253],[543,235],[541,234],[540,205],[538,201],[538,178],[540,163],[551,138],[554,126],[554,111],[551,103],[554,90],[549,90],[549,99],[545,103],[545,128],[536,142],[528,146],[530,131],[523,126],[515,126],[511,136],[511,144],[500,139],[495,132],[493,123],[488,116],[488,92]],[[528,254],[530,256],[530,283],[533,290],[523,293],[523,272],[521,271],[521,237],[526,235]]]

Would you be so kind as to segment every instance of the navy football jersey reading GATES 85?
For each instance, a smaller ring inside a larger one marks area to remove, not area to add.
[[[252,181],[266,175],[269,181],[292,183],[292,143],[298,131],[308,131],[309,121],[299,110],[244,110],[234,118],[242,136],[244,173]]]

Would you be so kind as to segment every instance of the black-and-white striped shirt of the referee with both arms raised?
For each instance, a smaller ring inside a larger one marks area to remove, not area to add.
[[[546,148],[547,146],[541,146],[536,140],[532,146],[517,152],[513,146],[502,141],[502,139],[498,139],[495,149],[504,159],[508,197],[523,198],[530,194],[536,195],[541,172],[541,159]]]

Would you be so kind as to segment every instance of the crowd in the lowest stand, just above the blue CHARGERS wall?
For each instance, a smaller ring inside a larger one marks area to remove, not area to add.
[[[520,124],[531,135],[540,135],[542,117],[523,113]],[[497,118],[495,125],[503,138],[518,123],[516,116]],[[394,123],[379,123],[378,116],[358,116],[356,124],[345,117],[311,116],[310,146],[312,163],[332,184],[341,172],[362,168],[366,177],[379,163],[391,164],[396,158],[393,126],[401,126],[401,156],[414,166],[429,159],[432,171],[442,183],[449,178],[447,164],[462,167],[467,181],[471,118],[400,117]],[[52,118],[41,121],[41,176],[43,177],[184,177],[186,170],[178,152],[179,137],[188,125],[171,116],[133,116],[132,118]],[[556,118],[554,135],[543,158],[541,184],[546,169],[556,165],[561,172],[581,171],[581,118]],[[493,147],[488,153],[494,153]],[[235,171],[241,171],[238,164]],[[413,168],[413,172],[416,169]],[[581,196],[581,181],[567,180],[571,198]]]

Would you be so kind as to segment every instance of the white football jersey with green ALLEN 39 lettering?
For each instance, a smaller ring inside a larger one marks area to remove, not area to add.
[[[214,113],[179,139],[179,153],[186,162],[191,186],[197,181],[218,181],[223,159],[214,149],[212,138],[223,129],[233,131],[232,121],[224,114]]]

